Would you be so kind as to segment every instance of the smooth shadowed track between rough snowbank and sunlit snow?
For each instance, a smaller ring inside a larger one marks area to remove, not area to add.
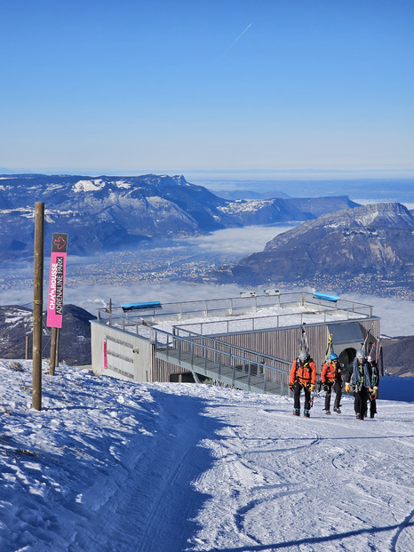
[[[145,452],[146,469],[141,472],[137,488],[131,489],[131,503],[123,504],[120,510],[127,524],[131,523],[131,513],[135,520],[134,531],[138,520],[139,550],[142,552],[161,550],[166,541],[170,541],[173,550],[185,548],[187,534],[194,524],[187,520],[199,500],[189,482],[198,480],[210,460],[207,451],[197,446],[200,434],[208,431],[208,424],[201,419],[200,426],[193,426],[194,420],[200,417],[200,402],[186,397],[182,399],[186,403],[183,409],[177,397],[167,397],[167,400],[163,397],[160,412],[162,426],[157,428],[163,439],[155,440],[154,446]],[[189,420],[192,420],[190,426]],[[142,486],[148,480],[152,482],[149,489]],[[146,497],[145,511],[142,505],[137,506],[135,498],[142,493]],[[185,520],[184,525],[182,520]],[[123,534],[123,524],[118,532]]]

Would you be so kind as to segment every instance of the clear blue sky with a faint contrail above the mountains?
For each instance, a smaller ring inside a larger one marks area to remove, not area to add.
[[[412,0],[0,4],[0,167],[414,169]]]

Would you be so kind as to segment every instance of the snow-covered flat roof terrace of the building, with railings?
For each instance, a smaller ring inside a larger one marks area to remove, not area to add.
[[[151,327],[168,333],[181,329],[198,335],[225,335],[372,318],[372,306],[330,295],[308,292],[246,295],[166,304],[129,303],[125,310],[100,309],[99,320],[149,338]]]

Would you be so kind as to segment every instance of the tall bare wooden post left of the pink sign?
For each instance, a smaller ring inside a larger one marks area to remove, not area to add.
[[[44,203],[35,204],[32,406],[42,410],[42,317],[44,307]]]

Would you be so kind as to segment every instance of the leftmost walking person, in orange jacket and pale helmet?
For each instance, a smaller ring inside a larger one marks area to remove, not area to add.
[[[304,416],[309,418],[310,395],[314,390],[316,380],[316,367],[306,349],[302,349],[299,358],[296,358],[291,365],[291,377],[289,387],[293,392],[294,416],[300,416],[300,393],[303,389],[305,394]]]

